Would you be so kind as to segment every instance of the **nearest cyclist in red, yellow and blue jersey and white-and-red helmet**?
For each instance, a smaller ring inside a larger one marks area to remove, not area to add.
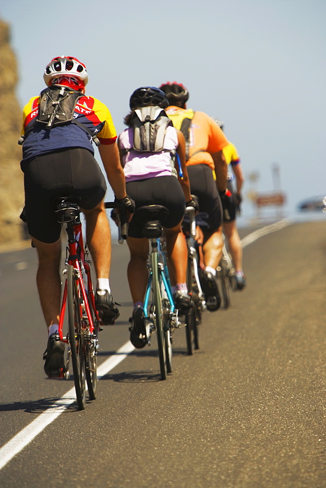
[[[79,199],[98,279],[97,309],[104,324],[120,313],[109,286],[110,227],[103,203],[106,183],[94,158],[93,141],[100,144],[116,199],[131,212],[134,206],[126,194],[110,112],[102,102],[84,95],[88,81],[85,65],[73,57],[57,57],[45,67],[43,79],[47,88],[23,110],[20,165],[25,218],[39,256],[37,286],[48,327],[44,370],[53,377],[64,367],[64,345],[56,340],[61,306],[61,224],[55,215],[55,197],[74,194]]]

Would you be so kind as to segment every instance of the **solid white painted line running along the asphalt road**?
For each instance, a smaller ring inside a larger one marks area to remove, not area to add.
[[[281,220],[275,224],[266,225],[261,229],[252,232],[245,236],[241,241],[242,246],[245,247],[254,241],[257,241],[262,236],[271,232],[276,232],[286,225],[291,224],[288,219]],[[111,369],[121,363],[128,354],[134,350],[134,346],[128,341],[125,343],[114,356],[109,357],[104,363],[98,367],[98,378],[107,374]],[[55,402],[52,407],[47,408],[41,413],[33,422],[23,428],[10,441],[0,448],[0,469],[2,469],[16,454],[18,454],[24,447],[26,447],[46,426],[51,424],[61,413],[63,413],[69,405],[76,401],[75,388],[71,388],[60,400]]]

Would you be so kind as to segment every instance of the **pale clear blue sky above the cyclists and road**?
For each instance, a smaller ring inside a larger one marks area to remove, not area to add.
[[[0,0],[0,17],[11,26],[21,105],[63,54],[86,64],[87,93],[109,107],[118,132],[135,88],[180,81],[188,107],[224,120],[244,194],[256,171],[256,189],[274,189],[278,163],[289,213],[326,195],[325,0]]]

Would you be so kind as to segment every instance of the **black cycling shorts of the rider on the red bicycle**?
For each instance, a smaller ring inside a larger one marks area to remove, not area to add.
[[[106,192],[100,166],[92,153],[83,148],[55,151],[33,159],[24,167],[24,186],[28,232],[48,244],[58,241],[61,234],[55,197],[80,196],[80,207],[90,210]]]

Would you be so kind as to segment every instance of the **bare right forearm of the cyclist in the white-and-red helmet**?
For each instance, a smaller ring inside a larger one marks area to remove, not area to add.
[[[119,200],[125,198],[127,194],[125,190],[125,178],[120,164],[117,143],[101,144],[99,146],[99,152],[108,182],[110,183],[115,196]]]

